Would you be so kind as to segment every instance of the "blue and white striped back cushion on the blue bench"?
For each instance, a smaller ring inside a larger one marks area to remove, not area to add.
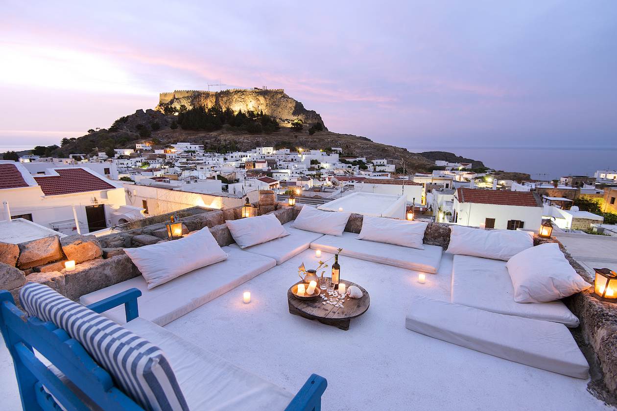
[[[146,410],[188,410],[163,351],[112,320],[39,283],[19,293],[29,315],[65,330]]]

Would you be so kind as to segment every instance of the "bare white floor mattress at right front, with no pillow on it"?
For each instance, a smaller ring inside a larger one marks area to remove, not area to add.
[[[576,378],[589,375],[587,360],[563,324],[496,314],[415,296],[405,327],[542,370]]]

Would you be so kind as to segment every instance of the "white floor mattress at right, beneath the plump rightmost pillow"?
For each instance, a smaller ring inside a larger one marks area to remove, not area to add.
[[[498,314],[560,322],[578,327],[579,320],[561,301],[516,303],[506,261],[454,256],[450,302]]]

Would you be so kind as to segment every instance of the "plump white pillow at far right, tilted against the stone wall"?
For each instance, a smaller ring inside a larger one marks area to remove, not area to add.
[[[557,243],[521,251],[505,264],[517,303],[545,303],[587,290],[591,285],[574,271]]]

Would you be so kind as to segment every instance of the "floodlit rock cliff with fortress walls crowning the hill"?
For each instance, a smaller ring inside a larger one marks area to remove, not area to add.
[[[218,92],[176,90],[161,93],[155,110],[173,114],[199,106],[218,106],[223,110],[230,108],[233,112],[263,112],[275,118],[281,126],[287,127],[296,120],[304,124],[320,123],[325,126],[317,112],[307,110],[302,103],[289,97],[282,89],[233,89]]]

